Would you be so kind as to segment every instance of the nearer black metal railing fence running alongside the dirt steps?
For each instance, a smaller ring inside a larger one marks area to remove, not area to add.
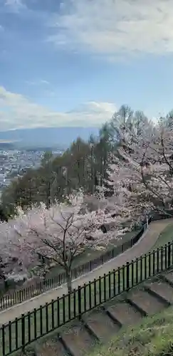
[[[31,342],[60,328],[70,320],[82,318],[89,310],[129,290],[133,286],[173,266],[173,241],[147,253],[135,261],[94,281],[78,286],[72,293],[41,305],[2,325],[0,329],[0,355],[26,347]]]

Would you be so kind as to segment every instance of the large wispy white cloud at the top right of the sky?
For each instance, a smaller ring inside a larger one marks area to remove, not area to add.
[[[173,52],[172,0],[64,0],[63,5],[48,24],[54,27],[48,41],[57,46],[111,60],[121,53]]]

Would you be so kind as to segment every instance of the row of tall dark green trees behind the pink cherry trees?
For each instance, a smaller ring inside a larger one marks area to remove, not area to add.
[[[88,142],[78,137],[63,155],[56,158],[46,152],[41,167],[29,169],[23,177],[13,179],[2,194],[3,209],[11,215],[18,205],[26,209],[43,201],[50,206],[56,199],[63,201],[64,194],[78,188],[95,193],[98,185],[102,187],[108,179],[110,152],[119,155],[117,147],[125,132],[127,134],[126,129],[140,135],[141,130],[150,131],[151,127],[152,123],[143,112],[133,112],[127,105],[122,105],[110,122],[101,127],[98,137],[91,136]]]

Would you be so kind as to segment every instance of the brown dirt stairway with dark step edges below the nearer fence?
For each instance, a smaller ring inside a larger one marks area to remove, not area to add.
[[[83,356],[96,343],[105,343],[124,325],[140,323],[173,305],[173,270],[132,288],[123,298],[112,299],[101,308],[83,315],[81,320],[66,325],[61,334],[34,347],[34,355]]]

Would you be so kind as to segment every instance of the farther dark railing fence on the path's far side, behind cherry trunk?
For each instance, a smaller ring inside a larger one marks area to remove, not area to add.
[[[149,219],[148,223],[150,224],[151,219]],[[93,269],[98,266],[103,265],[103,263],[110,261],[112,258],[115,258],[120,253],[126,251],[128,248],[132,247],[139,241],[140,237],[144,233],[145,229],[147,229],[147,224],[143,224],[142,229],[129,241],[126,241],[120,246],[116,246],[109,251],[106,251],[98,258],[94,258],[86,263],[80,264],[71,269],[71,278],[75,279],[79,276],[82,276],[85,273],[93,271]],[[28,300],[30,298],[35,297],[36,295],[40,295],[46,290],[51,290],[61,284],[66,283],[66,274],[60,273],[53,278],[47,278],[46,280],[39,281],[37,283],[33,283],[31,286],[26,288],[21,288],[20,290],[14,291],[14,293],[9,293],[8,295],[4,295],[0,298],[0,310],[4,310],[6,308],[10,308],[12,305],[16,305],[22,303],[24,300]]]

